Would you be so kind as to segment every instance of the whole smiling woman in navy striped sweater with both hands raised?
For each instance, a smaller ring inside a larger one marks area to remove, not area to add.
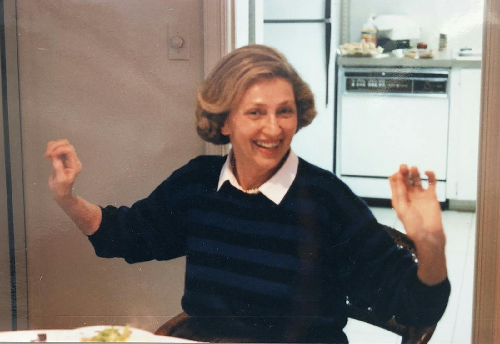
[[[403,324],[440,318],[450,286],[432,172],[427,189],[415,166],[390,177],[416,263],[344,183],[290,149],[314,101],[279,52],[250,45],[229,53],[198,102],[198,133],[230,141],[231,152],[192,159],[131,207],[73,195],[81,163],[66,139],[50,141],[45,152],[54,200],[98,256],[128,263],[186,256],[185,316],[164,334],[346,342],[347,294]]]

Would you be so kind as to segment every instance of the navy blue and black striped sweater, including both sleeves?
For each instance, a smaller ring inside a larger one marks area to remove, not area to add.
[[[225,161],[199,156],[131,207],[102,209],[89,236],[101,257],[133,263],[186,256],[190,315],[346,322],[345,298],[408,324],[435,323],[449,282],[427,286],[363,200],[331,172],[299,159],[279,204],[226,181]]]

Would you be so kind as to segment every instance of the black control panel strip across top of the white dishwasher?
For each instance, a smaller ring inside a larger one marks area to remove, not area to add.
[[[346,69],[347,92],[446,94],[449,70]]]

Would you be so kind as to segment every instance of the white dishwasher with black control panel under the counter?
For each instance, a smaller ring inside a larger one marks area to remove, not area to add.
[[[399,164],[438,180],[446,200],[449,69],[338,69],[335,173],[357,195],[390,198],[387,177]]]

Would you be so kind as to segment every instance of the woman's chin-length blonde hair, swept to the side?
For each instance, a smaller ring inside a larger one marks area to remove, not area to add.
[[[297,107],[297,131],[309,125],[316,110],[314,95],[285,57],[265,45],[246,45],[225,55],[213,68],[198,91],[196,131],[215,144],[229,143],[220,128],[230,109],[254,82],[272,77],[288,80]]]

